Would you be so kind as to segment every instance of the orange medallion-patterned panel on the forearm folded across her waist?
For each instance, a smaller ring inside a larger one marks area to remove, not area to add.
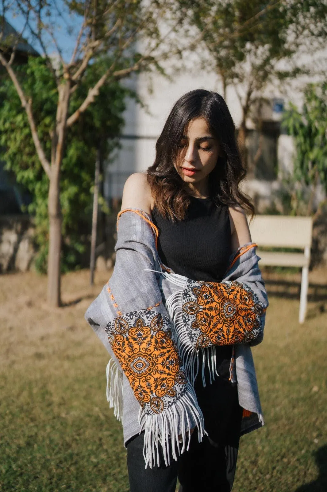
[[[182,294],[183,323],[194,348],[244,343],[263,327],[263,306],[244,283],[188,279]]]

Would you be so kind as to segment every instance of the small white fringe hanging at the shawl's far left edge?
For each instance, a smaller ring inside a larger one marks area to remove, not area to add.
[[[107,401],[113,408],[113,415],[123,422],[123,374],[113,359],[107,364]]]

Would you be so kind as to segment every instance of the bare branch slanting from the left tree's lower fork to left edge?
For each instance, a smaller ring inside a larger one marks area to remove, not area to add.
[[[7,70],[8,72],[8,75],[9,77],[11,78],[14,86],[15,86],[15,89],[19,95],[19,98],[21,100],[21,103],[22,103],[22,106],[23,108],[25,109],[26,111],[26,114],[27,114],[27,120],[28,120],[28,123],[29,123],[29,127],[30,127],[30,131],[31,131],[31,134],[32,134],[32,139],[33,139],[33,142],[34,142],[34,145],[35,145],[35,149],[36,149],[36,152],[37,152],[37,155],[41,161],[41,164],[42,164],[42,167],[44,169],[44,171],[46,172],[48,178],[50,179],[50,175],[51,175],[51,166],[50,166],[50,163],[42,149],[42,146],[41,146],[41,142],[39,140],[39,137],[38,137],[38,134],[37,134],[37,130],[36,130],[36,125],[35,125],[35,122],[34,122],[34,117],[33,117],[33,113],[32,113],[32,102],[31,100],[29,99],[28,101],[26,100],[26,97],[25,97],[25,94],[23,92],[23,89],[21,88],[20,86],[20,83],[18,82],[18,79],[16,77],[16,74],[15,72],[13,71],[12,67],[9,65],[8,62],[5,61],[5,58],[2,56],[1,52],[0,52],[0,62],[2,63],[2,65],[5,67],[5,69]]]

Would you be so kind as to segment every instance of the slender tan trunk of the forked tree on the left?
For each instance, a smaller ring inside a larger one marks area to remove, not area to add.
[[[59,99],[56,114],[56,127],[52,141],[51,176],[48,196],[49,213],[49,251],[48,251],[48,304],[59,307],[60,295],[60,256],[61,256],[61,207],[60,207],[60,168],[64,152],[66,122],[70,97],[70,84],[66,82],[58,88]]]

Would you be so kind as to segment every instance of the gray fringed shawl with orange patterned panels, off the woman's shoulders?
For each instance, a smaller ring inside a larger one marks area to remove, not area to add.
[[[191,430],[204,433],[193,390],[198,359],[218,377],[215,345],[230,344],[230,379],[244,408],[241,433],[264,424],[251,355],[263,338],[268,306],[253,243],[230,258],[221,282],[194,281],[163,265],[151,217],[125,209],[117,218],[116,262],[85,318],[106,346],[107,399],[121,420],[124,442],[144,431],[145,467],[177,460],[189,448]]]

